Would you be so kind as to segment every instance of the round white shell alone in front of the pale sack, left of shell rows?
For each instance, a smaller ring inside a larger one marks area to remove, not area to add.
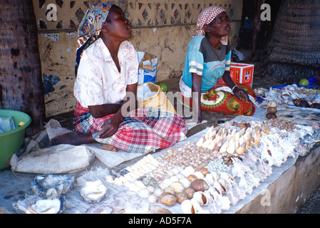
[[[108,193],[108,188],[103,185],[101,180],[86,182],[85,187],[81,188],[80,195],[85,202],[97,203]]]

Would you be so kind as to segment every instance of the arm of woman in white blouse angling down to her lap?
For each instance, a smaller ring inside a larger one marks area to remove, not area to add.
[[[128,115],[130,110],[134,110],[137,107],[137,86],[138,83],[127,86],[127,96],[125,100],[123,100],[123,103],[119,105],[119,108],[115,112],[115,115],[113,115],[112,118],[106,120],[105,123],[103,123],[102,130],[100,131],[100,134],[98,136],[99,138],[108,138],[114,135],[118,131],[119,125],[123,121],[123,118]],[[110,106],[110,108],[115,107]],[[102,113],[108,113],[108,110],[105,110]]]

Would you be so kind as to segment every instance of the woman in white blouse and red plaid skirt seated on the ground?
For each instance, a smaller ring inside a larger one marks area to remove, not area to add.
[[[113,4],[88,9],[78,28],[76,132],[51,145],[100,142],[105,149],[149,152],[184,140],[185,121],[158,108],[136,108],[138,55],[130,23]]]

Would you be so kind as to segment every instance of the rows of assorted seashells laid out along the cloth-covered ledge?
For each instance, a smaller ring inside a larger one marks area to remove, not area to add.
[[[185,213],[220,213],[251,194],[272,174],[273,165],[304,155],[300,139],[313,133],[310,126],[287,120],[227,122],[210,128],[197,142],[171,148],[156,158],[147,155],[127,167],[125,175],[105,179],[128,187],[151,204],[178,203]],[[212,162],[222,169],[210,167]]]

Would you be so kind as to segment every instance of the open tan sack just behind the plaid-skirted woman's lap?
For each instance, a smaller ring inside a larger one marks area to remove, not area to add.
[[[138,88],[142,85],[143,84],[139,85]],[[138,104],[140,107],[159,108],[159,109],[165,109],[167,111],[170,111],[171,113],[176,113],[175,108],[167,99],[167,95],[163,93],[160,86],[150,82],[148,82],[148,86],[150,90],[152,92],[156,92],[156,94],[151,96],[150,98],[146,98],[144,100],[138,100]]]

